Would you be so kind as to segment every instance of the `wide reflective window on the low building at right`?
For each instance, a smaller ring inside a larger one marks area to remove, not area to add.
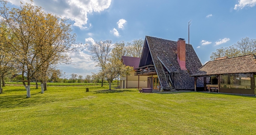
[[[251,74],[223,74],[221,88],[251,89]]]

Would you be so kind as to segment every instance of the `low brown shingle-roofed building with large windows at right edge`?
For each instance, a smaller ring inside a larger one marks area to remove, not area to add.
[[[204,90],[239,95],[256,95],[256,56],[222,57],[209,61],[191,76],[203,78]]]

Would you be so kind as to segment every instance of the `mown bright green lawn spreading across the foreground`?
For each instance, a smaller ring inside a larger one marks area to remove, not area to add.
[[[89,92],[85,89],[89,88]],[[6,86],[0,134],[198,135],[256,133],[256,99],[214,93],[138,93],[90,86],[49,86],[44,94]]]

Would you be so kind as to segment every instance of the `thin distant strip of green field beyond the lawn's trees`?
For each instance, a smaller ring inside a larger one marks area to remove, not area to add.
[[[22,82],[5,82],[5,84],[18,84],[18,85],[22,85]],[[27,82],[26,82],[27,84]],[[40,85],[41,83],[38,82],[38,85]],[[30,85],[35,85],[35,82],[30,82]],[[101,83],[61,83],[61,82],[47,82],[48,86],[67,86],[67,85],[101,85]],[[109,85],[107,84],[103,84],[103,85]],[[117,85],[117,84],[112,84],[112,85]]]

